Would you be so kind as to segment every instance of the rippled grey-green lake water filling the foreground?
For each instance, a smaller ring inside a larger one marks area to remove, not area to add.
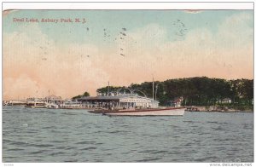
[[[253,162],[253,113],[108,117],[3,107],[3,162]]]

